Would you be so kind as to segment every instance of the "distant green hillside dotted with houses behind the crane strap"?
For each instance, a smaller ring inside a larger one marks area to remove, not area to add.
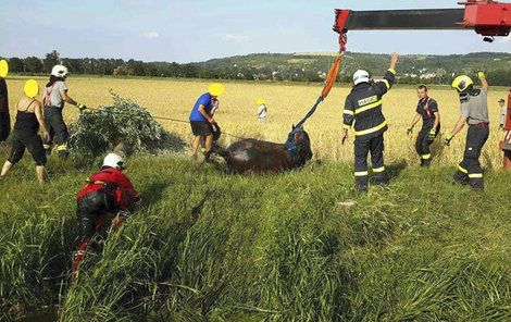
[[[314,82],[325,76],[333,60],[333,53],[254,53],[213,59],[195,63],[195,65],[210,72],[228,73],[230,77],[238,78]],[[340,77],[349,76],[358,69],[365,69],[374,75],[382,75],[387,66],[388,54],[347,52]],[[488,72],[489,81],[494,81],[494,84],[509,83],[511,53],[411,54],[402,55],[399,63],[402,83],[448,83],[452,74],[473,74],[481,70]]]

